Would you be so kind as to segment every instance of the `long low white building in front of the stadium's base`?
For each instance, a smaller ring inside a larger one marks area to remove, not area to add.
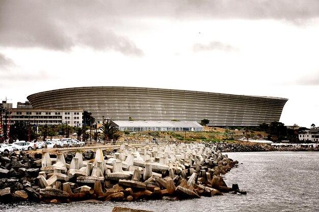
[[[120,131],[203,131],[196,121],[112,121]]]

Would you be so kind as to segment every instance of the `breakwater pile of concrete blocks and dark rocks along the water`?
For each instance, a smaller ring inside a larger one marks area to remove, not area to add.
[[[238,162],[223,155],[216,146],[181,143],[136,149],[123,144],[112,156],[104,156],[99,149],[93,159],[84,160],[90,157],[92,155],[76,152],[71,162],[66,163],[70,155],[58,153],[54,158],[43,151],[41,160],[34,161],[34,167],[41,166],[40,170],[32,172],[30,167],[26,169],[29,171],[25,170],[29,178],[11,178],[19,183],[16,186],[19,189],[0,184],[0,197],[68,202],[178,200],[224,192],[245,194],[236,184],[227,187],[222,175]]]

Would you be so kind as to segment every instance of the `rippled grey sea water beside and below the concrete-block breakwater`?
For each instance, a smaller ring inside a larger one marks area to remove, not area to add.
[[[319,211],[319,152],[228,153],[240,162],[225,175],[247,195],[182,201],[0,204],[0,211],[112,211],[124,206],[153,211]]]

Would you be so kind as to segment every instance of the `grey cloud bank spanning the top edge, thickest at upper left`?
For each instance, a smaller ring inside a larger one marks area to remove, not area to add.
[[[114,30],[119,26],[130,26],[127,20],[135,17],[186,21],[280,19],[300,24],[309,18],[319,17],[319,1],[1,0],[0,46],[67,51],[74,46],[85,45],[97,50],[141,56],[143,52],[133,40]],[[95,34],[88,33],[92,29]],[[83,38],[79,38],[80,35]],[[94,40],[96,38],[98,40]]]

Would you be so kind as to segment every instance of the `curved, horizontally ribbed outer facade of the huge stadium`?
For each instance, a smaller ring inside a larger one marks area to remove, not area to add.
[[[81,108],[96,121],[197,121],[214,126],[258,126],[279,121],[288,99],[137,87],[79,87],[27,97],[33,108]]]

